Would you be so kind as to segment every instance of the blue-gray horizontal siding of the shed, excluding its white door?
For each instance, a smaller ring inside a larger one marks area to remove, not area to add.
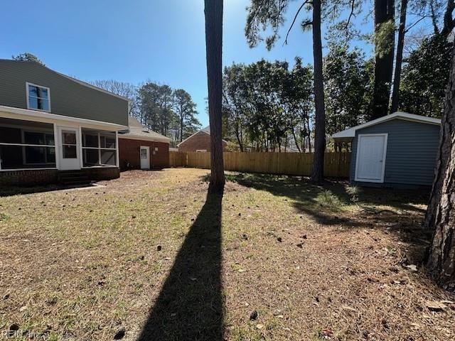
[[[358,135],[387,133],[384,183],[358,184],[390,187],[431,186],[439,146],[439,128],[434,124],[392,119],[356,131],[350,163],[350,180],[354,182],[355,179]]]

